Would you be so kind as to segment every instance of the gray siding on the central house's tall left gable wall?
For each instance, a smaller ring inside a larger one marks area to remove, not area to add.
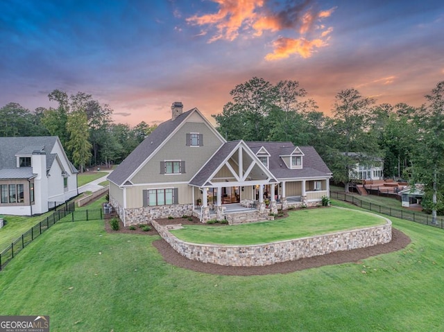
[[[187,144],[187,134],[191,132],[203,135],[203,146],[189,146]],[[189,182],[221,144],[220,139],[205,123],[187,122],[137,172],[131,182],[133,184]],[[185,163],[182,162],[182,169],[185,168],[185,173],[162,174],[161,164],[164,161],[185,161]]]

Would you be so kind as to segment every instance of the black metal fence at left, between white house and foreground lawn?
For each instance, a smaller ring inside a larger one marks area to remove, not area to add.
[[[90,209],[75,211],[74,202],[65,203],[62,207],[59,207],[56,211],[51,213],[41,222],[31,227],[26,233],[19,236],[15,241],[0,253],[0,271],[3,267],[10,262],[19,252],[21,252],[26,245],[33,242],[39,237],[46,229],[53,226],[60,219],[65,218],[71,214],[71,220],[67,221],[80,221],[80,220],[101,220],[103,219],[102,209]]]

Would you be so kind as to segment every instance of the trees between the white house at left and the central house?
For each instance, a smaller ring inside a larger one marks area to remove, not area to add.
[[[58,136],[80,172],[93,165],[118,164],[150,134],[155,125],[142,121],[135,127],[114,123],[112,109],[92,95],[68,95],[53,90],[48,98],[57,107],[37,107],[34,112],[19,103],[0,108],[0,137]]]

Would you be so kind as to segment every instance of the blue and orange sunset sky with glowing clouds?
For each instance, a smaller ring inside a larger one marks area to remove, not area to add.
[[[0,0],[0,107],[56,107],[60,89],[116,123],[175,101],[211,119],[253,77],[298,81],[327,115],[350,88],[419,106],[444,80],[444,1]]]

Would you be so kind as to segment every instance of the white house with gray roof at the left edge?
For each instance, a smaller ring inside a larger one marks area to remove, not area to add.
[[[49,211],[78,195],[77,174],[56,136],[0,137],[0,214]]]

